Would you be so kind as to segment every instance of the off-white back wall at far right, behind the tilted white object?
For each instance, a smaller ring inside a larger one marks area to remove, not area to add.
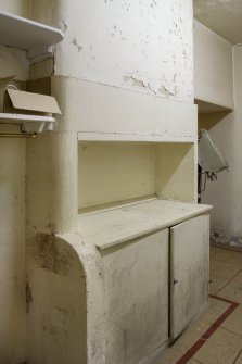
[[[202,202],[214,205],[212,211],[212,230],[225,235],[242,235],[242,173],[241,173],[241,134],[242,134],[242,47],[234,48],[234,102],[230,114],[203,115],[200,125],[209,128],[213,140],[230,164],[229,172],[218,174],[218,180],[207,183]]]

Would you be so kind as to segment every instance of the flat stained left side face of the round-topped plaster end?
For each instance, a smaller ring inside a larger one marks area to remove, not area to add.
[[[29,364],[87,362],[86,275],[65,240],[39,234],[28,244]],[[38,302],[38,304],[36,304]]]

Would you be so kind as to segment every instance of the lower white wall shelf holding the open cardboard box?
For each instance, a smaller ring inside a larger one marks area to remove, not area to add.
[[[0,124],[20,125],[26,133],[42,133],[44,125],[52,130],[54,121],[52,116],[0,113]]]

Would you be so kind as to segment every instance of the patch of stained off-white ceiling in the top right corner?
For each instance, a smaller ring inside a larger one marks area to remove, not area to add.
[[[242,0],[193,0],[194,17],[232,43],[242,42]]]

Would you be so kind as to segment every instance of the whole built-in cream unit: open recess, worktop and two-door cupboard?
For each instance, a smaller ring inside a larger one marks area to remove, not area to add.
[[[149,363],[208,304],[211,206],[193,202],[194,148],[79,141],[78,230],[100,258],[105,363]]]

